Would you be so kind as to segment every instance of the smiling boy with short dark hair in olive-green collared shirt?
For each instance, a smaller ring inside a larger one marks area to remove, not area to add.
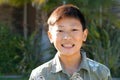
[[[34,69],[29,80],[111,80],[106,66],[87,58],[80,50],[88,30],[76,6],[55,9],[48,25],[48,37],[57,53],[51,61]]]

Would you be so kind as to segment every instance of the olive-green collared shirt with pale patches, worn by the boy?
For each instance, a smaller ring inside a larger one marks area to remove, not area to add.
[[[81,53],[82,61],[77,72],[69,75],[60,63],[58,54],[49,62],[34,69],[29,80],[112,80],[109,69]]]

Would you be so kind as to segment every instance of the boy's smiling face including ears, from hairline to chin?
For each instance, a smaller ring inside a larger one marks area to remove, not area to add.
[[[87,29],[83,31],[79,20],[65,17],[50,27],[48,36],[58,53],[73,55],[80,53],[80,48],[87,38],[87,33]]]

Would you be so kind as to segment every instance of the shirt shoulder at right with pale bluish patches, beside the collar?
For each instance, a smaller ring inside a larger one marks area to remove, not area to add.
[[[110,70],[107,66],[96,62],[94,60],[91,60],[87,58],[88,66],[90,68],[90,72],[95,73],[96,75],[102,76],[103,78],[110,76]]]

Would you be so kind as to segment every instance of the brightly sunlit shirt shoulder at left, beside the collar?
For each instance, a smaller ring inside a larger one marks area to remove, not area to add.
[[[50,72],[52,66],[52,60],[38,66],[37,68],[33,69],[30,75],[30,78],[37,78],[37,77],[43,77],[47,75],[47,73]],[[32,80],[32,79],[29,79]]]

